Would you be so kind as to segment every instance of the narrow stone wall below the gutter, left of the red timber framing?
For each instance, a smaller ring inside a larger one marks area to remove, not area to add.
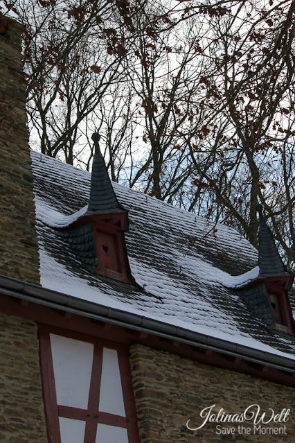
[[[0,442],[46,443],[35,322],[0,313]]]

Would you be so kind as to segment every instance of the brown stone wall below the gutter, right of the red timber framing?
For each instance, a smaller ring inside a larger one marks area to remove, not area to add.
[[[141,345],[133,345],[130,352],[141,443],[295,442],[293,388]],[[214,412],[223,408],[227,414],[241,414],[253,403],[261,412],[267,411],[267,417],[269,408],[276,412],[290,408],[289,419],[285,415],[287,422],[272,422],[260,428],[258,424],[255,434],[251,422],[240,424],[240,430],[239,423],[216,428],[217,423],[207,422],[199,431],[186,427],[188,419],[191,428],[200,426],[204,422],[200,412],[214,404]],[[269,435],[270,427],[277,428],[276,435]]]

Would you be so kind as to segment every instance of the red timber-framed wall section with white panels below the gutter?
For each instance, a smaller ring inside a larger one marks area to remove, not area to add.
[[[48,441],[138,443],[127,348],[44,330],[39,342]]]

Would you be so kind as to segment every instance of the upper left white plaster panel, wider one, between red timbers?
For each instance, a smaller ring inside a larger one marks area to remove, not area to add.
[[[87,409],[93,345],[54,334],[50,337],[57,404]]]

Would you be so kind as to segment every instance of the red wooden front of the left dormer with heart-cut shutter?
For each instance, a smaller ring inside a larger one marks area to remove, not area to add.
[[[123,241],[123,233],[128,227],[127,213],[84,216],[72,226],[82,225],[89,220],[93,223],[93,236],[98,259],[95,272],[132,284]]]

